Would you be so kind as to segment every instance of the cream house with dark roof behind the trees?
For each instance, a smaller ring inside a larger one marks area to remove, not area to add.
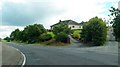
[[[71,30],[73,30],[73,29],[82,29],[83,28],[83,24],[84,24],[84,22],[77,23],[77,22],[75,22],[73,20],[64,20],[64,21],[59,20],[58,23],[56,23],[56,24],[51,26],[51,30],[53,29],[53,27],[55,25],[58,25],[60,23],[68,25],[68,27],[71,28]]]

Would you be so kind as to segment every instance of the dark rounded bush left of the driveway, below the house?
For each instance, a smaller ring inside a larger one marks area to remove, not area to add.
[[[58,42],[63,42],[63,43],[67,43],[68,42],[68,36],[67,36],[66,33],[63,33],[63,32],[57,34],[55,39]]]

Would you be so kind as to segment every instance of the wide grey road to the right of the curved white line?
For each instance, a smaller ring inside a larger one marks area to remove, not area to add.
[[[54,47],[5,43],[22,51],[26,65],[118,65],[118,49],[102,47]]]

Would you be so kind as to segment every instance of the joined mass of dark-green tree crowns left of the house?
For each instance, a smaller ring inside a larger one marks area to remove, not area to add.
[[[35,43],[39,41],[39,36],[46,33],[46,29],[41,24],[28,25],[23,31],[15,29],[11,35],[11,40]]]

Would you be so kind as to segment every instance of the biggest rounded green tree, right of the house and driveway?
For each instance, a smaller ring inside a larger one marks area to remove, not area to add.
[[[103,45],[106,41],[107,27],[101,18],[91,18],[84,24],[81,32],[83,42],[92,42],[95,46]]]

